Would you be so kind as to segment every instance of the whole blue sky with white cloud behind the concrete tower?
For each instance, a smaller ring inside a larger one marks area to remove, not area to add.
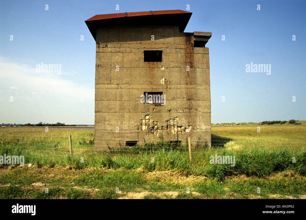
[[[212,123],[306,120],[305,1],[1,0],[0,122],[94,124],[95,41],[84,21],[187,4],[185,32],[212,32]],[[37,73],[41,62],[61,74]],[[271,74],[246,72],[251,62]]]

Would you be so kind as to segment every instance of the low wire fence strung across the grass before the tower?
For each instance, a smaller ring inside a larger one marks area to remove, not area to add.
[[[5,135],[2,136],[1,146],[9,146],[26,153],[41,155],[69,156],[69,136],[40,136],[40,135]],[[241,141],[241,140],[166,140],[166,139],[124,139],[112,137],[80,137],[72,136],[72,154],[81,155],[110,155],[137,158],[140,155],[152,155],[157,152],[180,152],[189,155],[189,144],[192,156],[199,157],[212,150],[230,149],[241,150],[248,147],[290,147],[306,149],[306,142],[299,141]]]

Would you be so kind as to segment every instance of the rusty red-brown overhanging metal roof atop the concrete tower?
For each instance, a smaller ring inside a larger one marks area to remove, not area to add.
[[[96,40],[96,28],[108,25],[169,25],[183,32],[192,13],[183,10],[163,10],[95,15],[85,21]]]

